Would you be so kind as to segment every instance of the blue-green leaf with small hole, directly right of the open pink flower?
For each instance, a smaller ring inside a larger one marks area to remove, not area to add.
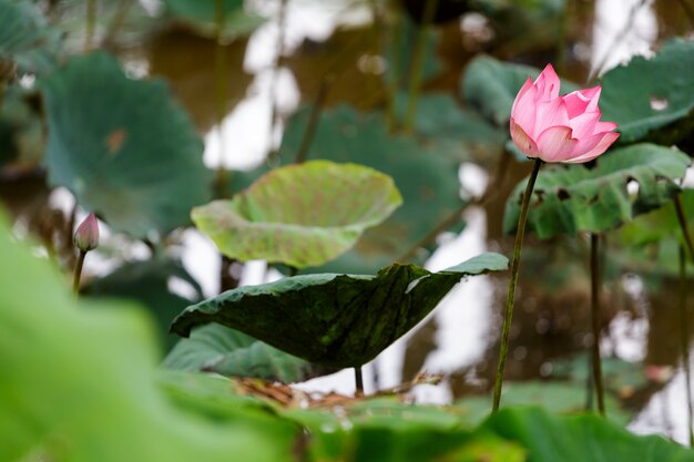
[[[620,143],[633,143],[681,119],[694,117],[694,40],[672,40],[654,57],[633,58],[605,73],[600,107],[603,120],[620,125]],[[676,132],[663,144],[688,135]]]

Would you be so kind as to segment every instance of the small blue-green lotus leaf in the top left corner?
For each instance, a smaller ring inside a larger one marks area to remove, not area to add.
[[[57,64],[61,44],[60,32],[48,25],[32,2],[0,0],[0,63],[11,61],[20,72],[45,73]]]

